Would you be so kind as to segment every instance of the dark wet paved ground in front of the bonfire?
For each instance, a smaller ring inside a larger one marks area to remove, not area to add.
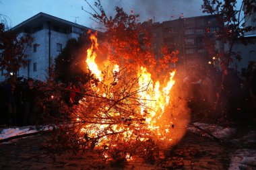
[[[187,132],[183,140],[165,151],[166,157],[157,163],[147,163],[141,158],[125,166],[113,167],[99,163],[97,156],[49,156],[42,147],[49,134],[40,134],[11,140],[0,144],[0,169],[228,169],[230,159],[226,147],[211,138]]]

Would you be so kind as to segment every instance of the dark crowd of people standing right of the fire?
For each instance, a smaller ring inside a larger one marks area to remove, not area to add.
[[[234,69],[222,73],[190,71],[183,79],[193,121],[256,121],[255,72],[239,75]]]

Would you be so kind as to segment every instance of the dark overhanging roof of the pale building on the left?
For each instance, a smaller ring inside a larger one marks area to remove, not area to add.
[[[38,13],[34,15],[33,17],[30,17],[29,19],[26,19],[26,21],[22,22],[21,24],[18,24],[17,26],[11,28],[14,32],[22,32],[24,28],[34,28],[36,26],[39,26],[43,22],[54,22],[55,24],[61,25],[61,26],[74,26],[77,28],[87,28],[85,26],[75,24],[73,22],[69,22],[65,19],[61,19],[59,17],[55,17],[53,15],[49,15],[46,13]],[[87,28],[90,29],[90,28]]]

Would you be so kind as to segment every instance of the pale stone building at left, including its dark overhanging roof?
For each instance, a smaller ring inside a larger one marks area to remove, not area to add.
[[[46,13],[38,13],[11,30],[20,36],[31,34],[34,38],[32,46],[26,49],[28,65],[20,68],[18,77],[31,77],[44,81],[49,67],[54,64],[55,58],[65,47],[67,40],[78,38],[79,34],[87,32],[90,28]],[[4,71],[0,75],[0,81],[5,80],[3,73]]]

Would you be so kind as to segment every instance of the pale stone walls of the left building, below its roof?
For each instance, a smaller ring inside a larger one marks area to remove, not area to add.
[[[38,32],[32,34],[34,42],[32,46],[26,50],[28,57],[28,66],[22,67],[18,73],[19,77],[31,77],[40,81],[46,80],[48,76],[49,68],[49,28],[47,23],[44,23],[44,28]],[[78,33],[65,34],[62,32],[56,32],[51,30],[51,64],[54,64],[55,58],[61,53],[57,50],[57,44],[61,44],[61,48],[65,48],[67,40],[70,38],[78,38]],[[36,51],[34,51],[34,45]],[[0,77],[0,81],[3,81],[5,77]]]

